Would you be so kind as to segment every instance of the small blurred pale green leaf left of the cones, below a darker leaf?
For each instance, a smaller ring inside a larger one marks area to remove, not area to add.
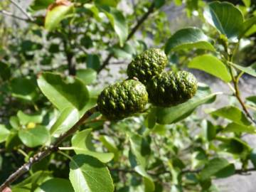
[[[91,68],[77,70],[76,76],[85,83],[90,85],[97,79],[97,72]]]

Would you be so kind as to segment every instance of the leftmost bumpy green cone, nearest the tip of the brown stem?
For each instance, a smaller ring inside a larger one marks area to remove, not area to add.
[[[142,112],[147,102],[146,87],[138,80],[125,80],[110,85],[97,98],[100,113],[110,120]]]

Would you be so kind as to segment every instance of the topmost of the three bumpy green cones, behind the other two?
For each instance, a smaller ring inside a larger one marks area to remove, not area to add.
[[[130,79],[138,78],[142,83],[150,80],[154,75],[160,74],[168,62],[164,51],[151,48],[137,55],[127,68]]]

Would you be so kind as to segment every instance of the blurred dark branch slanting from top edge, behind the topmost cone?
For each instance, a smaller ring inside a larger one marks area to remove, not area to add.
[[[139,27],[142,25],[142,23],[144,23],[144,21],[146,21],[146,18],[148,18],[149,15],[154,11],[154,6],[155,6],[155,4],[153,2],[151,4],[151,6],[149,7],[148,11],[146,11],[146,13],[144,14],[144,16],[142,16],[142,18],[140,18],[139,21],[137,21],[137,24],[132,28],[132,31],[128,34],[127,40],[125,42],[129,41],[129,39],[132,38],[132,36],[134,36],[134,33],[139,29]],[[107,55],[107,58],[105,58],[102,65],[97,70],[97,73],[100,73],[100,71],[102,71],[110,63],[110,59],[113,56],[114,56],[113,53],[109,53]]]

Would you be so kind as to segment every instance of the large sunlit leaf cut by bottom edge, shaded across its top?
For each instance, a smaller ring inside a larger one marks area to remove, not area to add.
[[[105,164],[92,156],[79,154],[70,161],[70,181],[78,191],[113,192],[110,171]]]

